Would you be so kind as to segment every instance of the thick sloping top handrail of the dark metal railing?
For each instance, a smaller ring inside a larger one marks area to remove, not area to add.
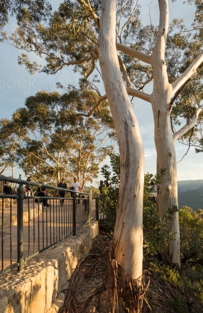
[[[35,187],[47,188],[47,189],[54,189],[54,190],[59,190],[59,191],[61,190],[61,191],[75,192],[75,193],[85,194],[85,195],[88,195],[88,196],[90,195],[89,193],[85,193],[85,192],[74,191],[74,190],[60,188],[60,187],[55,187],[55,186],[51,186],[51,185],[44,185],[44,184],[40,184],[38,182],[29,182],[27,180],[16,179],[16,178],[6,177],[6,176],[0,175],[0,181],[1,180],[5,181],[5,182],[14,182],[16,184],[35,186]]]

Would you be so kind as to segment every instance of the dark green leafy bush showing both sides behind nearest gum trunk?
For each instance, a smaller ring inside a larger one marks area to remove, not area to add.
[[[103,188],[103,195],[99,199],[100,210],[108,216],[108,229],[109,237],[112,238],[113,230],[116,223],[116,208],[119,196],[119,183],[120,183],[120,156],[119,154],[111,153],[110,164],[113,175],[111,176],[110,167],[104,165],[101,172],[106,180],[111,184],[111,188]],[[167,233],[168,221],[172,219],[177,207],[173,206],[168,209],[167,214],[162,218],[159,217],[159,211],[156,204],[151,201],[152,192],[154,192],[157,184],[162,182],[165,175],[165,169],[161,169],[160,173],[153,176],[147,173],[145,175],[144,183],[144,197],[143,197],[143,254],[147,255],[157,254],[161,247],[167,246],[170,240],[174,240],[174,233]]]

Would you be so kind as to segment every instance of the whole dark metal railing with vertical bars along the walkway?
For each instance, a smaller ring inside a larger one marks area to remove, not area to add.
[[[75,236],[91,218],[99,223],[99,194],[74,192],[1,175],[0,181],[19,184],[17,195],[0,194],[0,276],[12,269],[21,271],[25,261],[64,238]],[[45,197],[25,196],[23,185],[72,192],[72,197],[58,198],[53,192],[47,192]]]

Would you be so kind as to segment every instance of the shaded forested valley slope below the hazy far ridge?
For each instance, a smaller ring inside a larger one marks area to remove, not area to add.
[[[178,192],[178,207],[187,205],[193,210],[203,209],[203,187],[187,192]]]

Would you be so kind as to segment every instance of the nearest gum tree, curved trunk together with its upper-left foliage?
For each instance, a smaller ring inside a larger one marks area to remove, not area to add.
[[[85,116],[100,110],[99,106],[108,99],[121,154],[115,259],[132,278],[139,278],[142,275],[144,152],[138,123],[128,98],[128,90],[130,94],[133,91],[132,84],[122,57],[116,50],[115,40],[121,38],[126,25],[136,19],[137,2],[117,2],[120,11],[116,8],[116,0],[103,1],[102,5],[100,1],[91,3],[89,0],[64,1],[52,14],[48,26],[33,24],[26,16],[11,40],[19,49],[45,56],[46,65],[43,67],[35,61],[31,63],[25,53],[19,57],[19,64],[24,64],[31,74],[35,71],[55,74],[65,66],[75,66],[74,70],[84,76],[80,85],[88,85],[99,96]],[[118,21],[116,24],[116,16],[120,17],[120,22],[126,19],[124,26]],[[96,64],[98,59],[106,95],[100,94],[96,76],[89,80],[95,69],[100,73]],[[138,97],[145,95],[138,90],[134,93]]]

